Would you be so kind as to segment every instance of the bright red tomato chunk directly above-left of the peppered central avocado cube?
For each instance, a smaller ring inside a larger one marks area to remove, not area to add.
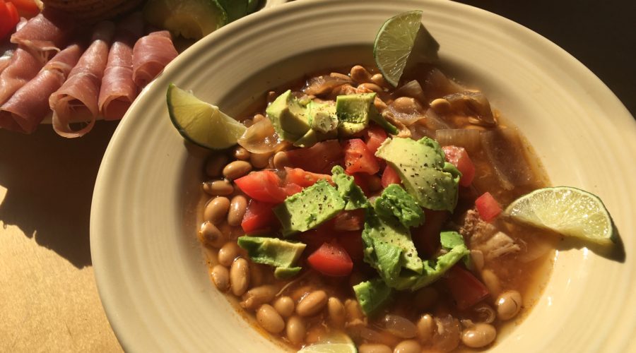
[[[281,178],[271,170],[249,173],[234,181],[247,196],[267,203],[281,203],[288,193],[281,187]]]

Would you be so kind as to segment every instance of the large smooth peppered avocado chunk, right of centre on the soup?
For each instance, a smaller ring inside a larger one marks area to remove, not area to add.
[[[457,168],[446,162],[437,141],[424,137],[387,138],[375,152],[399,174],[404,188],[418,205],[430,210],[453,211],[459,195]]]

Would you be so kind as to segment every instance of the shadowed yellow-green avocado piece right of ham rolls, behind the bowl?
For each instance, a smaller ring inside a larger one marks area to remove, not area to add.
[[[150,25],[193,40],[228,23],[227,13],[216,0],[148,0],[143,17]]]

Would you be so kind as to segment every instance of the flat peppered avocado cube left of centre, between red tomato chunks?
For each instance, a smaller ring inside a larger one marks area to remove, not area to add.
[[[345,208],[340,193],[324,180],[295,193],[273,209],[283,236],[305,232],[331,219]]]

